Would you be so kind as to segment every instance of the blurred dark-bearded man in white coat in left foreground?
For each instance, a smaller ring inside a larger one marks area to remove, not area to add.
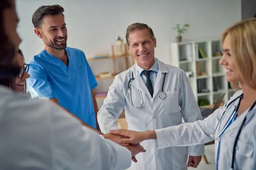
[[[1,0],[0,170],[127,169],[145,152],[140,145],[118,145],[120,136],[98,135],[59,105],[15,92],[15,77],[24,69],[16,60],[17,24],[15,0]]]

